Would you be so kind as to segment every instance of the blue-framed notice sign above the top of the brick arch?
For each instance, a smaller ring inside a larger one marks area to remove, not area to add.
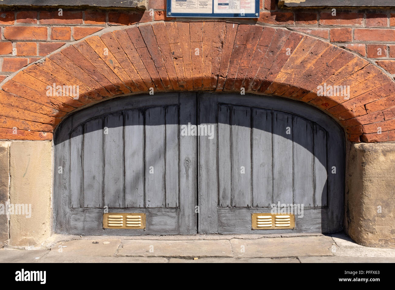
[[[167,17],[259,18],[259,0],[167,0]]]

